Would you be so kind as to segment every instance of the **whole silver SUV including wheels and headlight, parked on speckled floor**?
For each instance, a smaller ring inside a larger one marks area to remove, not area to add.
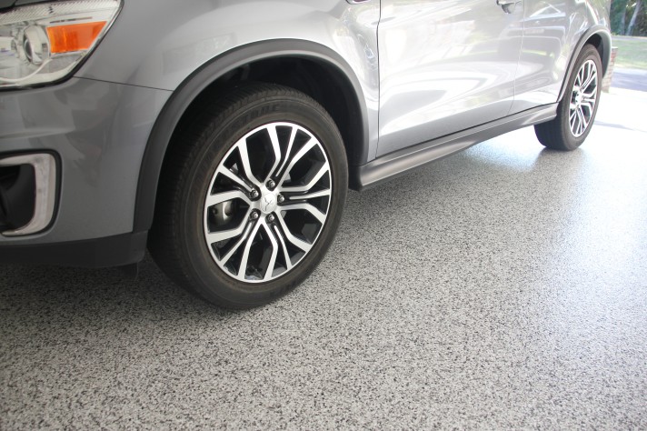
[[[573,150],[608,0],[0,0],[0,260],[146,248],[219,306],[308,276],[350,186],[526,125]]]

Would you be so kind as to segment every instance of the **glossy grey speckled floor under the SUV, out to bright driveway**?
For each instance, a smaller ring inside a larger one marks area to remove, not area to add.
[[[351,193],[251,311],[150,259],[0,266],[0,428],[647,428],[647,96],[602,108],[573,153],[529,128]]]

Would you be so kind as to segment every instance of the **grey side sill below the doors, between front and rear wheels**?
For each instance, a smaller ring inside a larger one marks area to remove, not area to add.
[[[506,116],[492,123],[477,125],[453,135],[445,135],[423,142],[423,144],[382,155],[366,165],[354,166],[349,177],[350,187],[353,190],[361,191],[380,185],[396,176],[408,174],[415,168],[447,155],[453,155],[495,136],[512,132],[527,125],[538,125],[550,121],[557,116],[557,105],[542,105],[519,114]]]

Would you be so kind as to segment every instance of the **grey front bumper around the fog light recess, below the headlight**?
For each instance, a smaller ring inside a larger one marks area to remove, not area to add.
[[[133,232],[137,183],[148,136],[169,95],[81,78],[0,93],[0,159],[40,153],[57,160],[51,222],[30,235],[0,234],[0,262],[132,263],[134,256],[113,256],[117,250],[141,259],[145,232]]]

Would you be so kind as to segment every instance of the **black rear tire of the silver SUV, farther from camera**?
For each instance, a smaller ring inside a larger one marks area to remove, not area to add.
[[[577,84],[581,82],[582,74],[587,73],[585,68],[589,66],[593,67],[595,79],[581,91]],[[584,45],[572,69],[566,93],[557,106],[557,116],[549,122],[534,126],[534,133],[539,142],[548,148],[561,151],[572,151],[582,145],[586,136],[591,132],[595,114],[598,111],[598,105],[600,105],[601,90],[602,63],[600,54],[594,46]],[[588,100],[582,96],[584,93],[594,95],[592,109],[588,108],[590,103],[582,103],[582,99]],[[571,122],[572,115],[575,115],[573,118],[575,125]]]

